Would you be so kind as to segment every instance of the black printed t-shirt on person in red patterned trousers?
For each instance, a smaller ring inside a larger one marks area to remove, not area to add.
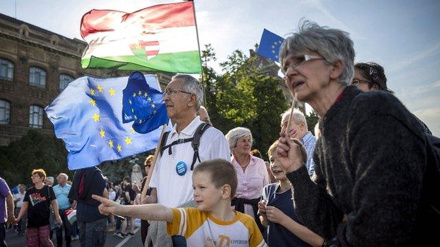
[[[56,200],[54,189],[43,186],[41,189],[30,187],[25,193],[23,202],[29,202],[28,228],[47,226],[50,224],[50,202]]]

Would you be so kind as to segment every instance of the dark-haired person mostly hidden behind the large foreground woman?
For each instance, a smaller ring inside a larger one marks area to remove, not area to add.
[[[386,86],[386,76],[384,67],[375,62],[356,62],[355,63],[355,76],[351,81],[351,84],[358,86],[358,89],[369,92],[375,90],[386,91],[388,93],[394,93],[388,86]],[[413,115],[419,124],[423,127],[423,131],[426,134],[432,134],[428,126],[423,121]]]

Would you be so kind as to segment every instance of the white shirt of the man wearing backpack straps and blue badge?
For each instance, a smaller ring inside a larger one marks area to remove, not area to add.
[[[166,145],[176,141],[177,139],[191,138],[197,127],[203,123],[199,117],[191,121],[180,134],[177,134],[176,124],[173,126]],[[192,171],[191,163],[194,156],[191,142],[180,143],[173,145],[171,148],[172,154],[168,154],[168,149],[157,161],[153,176],[151,176],[150,187],[157,189],[157,203],[165,207],[177,207],[192,200]],[[214,158],[223,158],[230,161],[230,151],[228,141],[220,130],[214,127],[208,128],[200,138],[199,145],[200,161],[210,161]],[[177,164],[179,168],[186,167],[186,173],[183,176],[177,174]],[[199,163],[197,160],[195,165]]]

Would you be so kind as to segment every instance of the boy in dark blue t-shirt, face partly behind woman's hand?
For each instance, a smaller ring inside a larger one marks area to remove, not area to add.
[[[300,146],[303,162],[307,162],[304,146],[298,139],[294,141]],[[322,246],[322,237],[298,223],[292,202],[292,188],[276,158],[276,145],[278,141],[270,146],[267,154],[271,172],[278,183],[267,185],[263,189],[263,200],[259,202],[261,224],[267,226],[266,242],[269,246]]]

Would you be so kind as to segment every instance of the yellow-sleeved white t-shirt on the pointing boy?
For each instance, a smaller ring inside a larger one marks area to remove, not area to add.
[[[167,223],[167,233],[186,237],[187,246],[205,246],[211,239],[215,246],[267,246],[254,219],[235,213],[234,220],[222,222],[199,209],[173,208],[173,222]]]

